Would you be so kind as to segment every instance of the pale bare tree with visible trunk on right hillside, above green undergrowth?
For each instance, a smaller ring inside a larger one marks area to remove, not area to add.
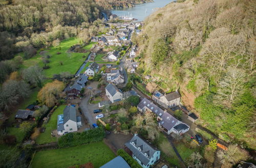
[[[244,70],[229,67],[223,80],[219,83],[219,90],[215,97],[217,102],[230,106],[243,90]]]

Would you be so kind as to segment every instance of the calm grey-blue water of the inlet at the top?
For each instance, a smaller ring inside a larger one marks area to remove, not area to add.
[[[154,0],[153,3],[138,4],[134,8],[116,9],[112,10],[113,14],[117,16],[128,16],[138,19],[138,21],[144,20],[148,15],[156,11],[158,8],[162,8],[165,5],[173,2],[174,0]]]

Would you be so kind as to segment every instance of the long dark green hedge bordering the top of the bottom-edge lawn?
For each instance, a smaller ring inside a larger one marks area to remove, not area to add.
[[[74,147],[82,144],[102,141],[105,131],[102,127],[84,132],[70,132],[58,138],[59,147]]]

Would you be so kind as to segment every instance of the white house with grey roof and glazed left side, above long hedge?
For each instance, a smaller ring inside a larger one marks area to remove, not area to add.
[[[77,120],[78,119],[78,120]],[[76,117],[76,107],[72,105],[66,106],[62,115],[58,115],[57,132],[58,135],[63,135],[68,132],[77,131],[77,127],[82,125],[81,119]]]

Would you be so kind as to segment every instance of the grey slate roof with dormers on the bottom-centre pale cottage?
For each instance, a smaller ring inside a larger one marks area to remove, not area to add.
[[[132,145],[132,143],[135,144]],[[150,159],[154,155],[154,153],[157,151],[153,147],[151,147],[147,142],[145,142],[141,137],[138,135],[134,135],[132,139],[124,144],[127,148],[129,148],[133,155],[136,156],[144,165],[147,165],[148,162],[150,162]],[[139,151],[138,147],[143,147],[141,151]],[[145,153],[147,153],[147,156],[145,156]]]

